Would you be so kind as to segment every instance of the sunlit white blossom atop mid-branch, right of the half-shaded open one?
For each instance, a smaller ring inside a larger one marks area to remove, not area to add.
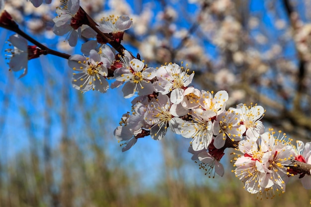
[[[183,70],[177,64],[169,63],[168,65],[161,66],[157,72],[156,77],[158,82],[156,84],[157,92],[161,94],[170,93],[170,101],[178,104],[184,98],[184,90],[193,79],[194,72],[188,74],[189,69]]]

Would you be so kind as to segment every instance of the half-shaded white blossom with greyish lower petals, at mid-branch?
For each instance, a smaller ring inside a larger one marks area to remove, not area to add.
[[[126,68],[114,71],[114,77],[119,82],[126,82],[122,88],[123,96],[130,98],[138,92],[139,95],[149,95],[154,92],[150,80],[156,76],[156,69],[146,68],[144,62],[133,59]]]

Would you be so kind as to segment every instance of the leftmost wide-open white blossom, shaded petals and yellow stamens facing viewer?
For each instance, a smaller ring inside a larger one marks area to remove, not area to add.
[[[74,88],[83,92],[98,90],[106,92],[109,84],[106,80],[107,68],[103,65],[105,58],[101,57],[97,51],[91,50],[89,58],[81,55],[73,55],[69,58],[68,64],[75,71],[72,83]]]

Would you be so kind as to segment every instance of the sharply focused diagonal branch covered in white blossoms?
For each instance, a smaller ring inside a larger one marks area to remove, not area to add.
[[[33,2],[38,5],[42,0]],[[66,56],[33,39],[25,39],[28,36],[18,26],[9,26],[10,15],[2,12],[0,26],[20,34],[9,38],[14,46],[8,50],[12,70],[24,69],[23,76],[27,73],[28,60],[53,54],[68,58],[74,70],[73,87],[81,92],[104,93],[109,87],[122,87],[124,98],[135,97],[131,112],[122,116],[120,126],[114,130],[122,151],[130,149],[138,138],[162,139],[170,129],[189,139],[188,151],[193,154],[192,159],[199,162],[209,176],[224,175],[221,159],[226,148],[234,148],[233,172],[244,183],[246,191],[273,197],[275,191],[285,192],[286,182],[298,174],[303,186],[311,189],[311,142],[305,145],[297,141],[294,146],[285,134],[275,136],[273,130],[265,132],[260,121],[265,112],[262,106],[238,104],[226,109],[227,91],[215,93],[193,87],[194,72],[187,65],[166,63],[158,68],[148,67],[139,56],[135,58],[120,44],[124,31],[132,26],[128,16],[110,15],[101,22],[94,22],[80,7],[79,0],[61,2],[58,16],[53,20],[54,32],[57,35],[70,33],[71,46],[76,46],[81,35],[91,38],[82,45],[84,55]],[[28,46],[27,40],[35,46]],[[109,85],[110,81],[113,82]],[[303,165],[307,170],[301,168]]]

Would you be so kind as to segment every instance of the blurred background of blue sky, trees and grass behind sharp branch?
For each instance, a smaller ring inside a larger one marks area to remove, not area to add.
[[[20,27],[47,46],[81,54],[53,34],[60,2],[34,8],[7,0]],[[127,14],[124,46],[148,66],[175,62],[196,72],[193,85],[227,90],[227,109],[262,105],[265,128],[311,141],[310,0],[80,0],[95,20]],[[310,206],[298,178],[286,193],[257,199],[231,172],[208,178],[187,152],[189,139],[141,138],[121,151],[113,136],[131,100],[120,88],[81,94],[67,60],[41,56],[28,74],[8,70],[12,32],[0,30],[0,207],[293,207]],[[5,64],[4,64],[5,63]],[[110,82],[111,83],[111,82]]]

